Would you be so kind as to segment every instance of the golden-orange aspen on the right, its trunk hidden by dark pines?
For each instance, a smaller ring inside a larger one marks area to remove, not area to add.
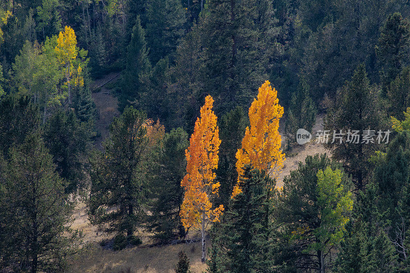
[[[243,175],[243,166],[251,164],[259,171],[271,171],[277,177],[283,167],[285,155],[280,150],[279,119],[283,107],[277,98],[277,91],[271,87],[269,80],[259,88],[258,97],[249,108],[251,128],[247,127],[242,139],[242,148],[236,153],[236,170],[238,181]],[[238,184],[234,187],[232,197],[241,193]]]

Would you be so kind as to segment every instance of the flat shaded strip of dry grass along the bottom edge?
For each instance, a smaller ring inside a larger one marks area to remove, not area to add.
[[[70,272],[174,272],[178,253],[184,250],[191,262],[191,271],[200,273],[207,269],[201,263],[201,245],[198,243],[167,245],[162,247],[134,247],[119,251],[103,249],[95,244],[92,250],[71,262]]]

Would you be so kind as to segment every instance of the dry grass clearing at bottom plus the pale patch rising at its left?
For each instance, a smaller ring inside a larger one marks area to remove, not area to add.
[[[136,235],[141,238],[142,246],[113,251],[99,245],[99,242],[112,238],[112,235],[108,235],[97,226],[90,224],[87,207],[83,202],[77,203],[72,218],[71,227],[83,232],[84,242],[89,243],[90,247],[87,247],[83,253],[70,262],[70,272],[119,273],[122,272],[122,269],[124,273],[168,273],[174,271],[180,250],[187,253],[193,273],[203,272],[207,268],[206,265],[201,263],[200,242],[148,247],[147,245],[153,243],[152,234],[140,230]],[[208,241],[207,244],[209,244]]]

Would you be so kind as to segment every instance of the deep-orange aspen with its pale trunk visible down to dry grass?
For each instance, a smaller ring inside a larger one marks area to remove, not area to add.
[[[206,224],[219,221],[223,205],[213,208],[211,200],[218,195],[219,182],[214,182],[218,167],[219,129],[217,117],[212,111],[213,98],[208,95],[195,122],[190,146],[185,151],[187,175],[181,186],[185,189],[180,217],[186,229],[193,226],[201,231],[202,263],[205,262]]]

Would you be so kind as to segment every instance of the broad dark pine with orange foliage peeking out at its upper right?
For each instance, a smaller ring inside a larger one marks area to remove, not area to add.
[[[150,187],[144,164],[148,144],[147,116],[127,107],[110,125],[110,137],[104,142],[104,153],[92,157],[90,219],[107,224],[107,232],[132,242],[136,227],[145,218],[144,207]],[[116,206],[111,212],[106,207]]]

